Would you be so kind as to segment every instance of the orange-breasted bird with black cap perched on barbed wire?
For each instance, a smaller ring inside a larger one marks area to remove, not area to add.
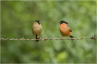
[[[70,38],[74,38],[71,33],[72,30],[70,29],[70,27],[68,26],[68,23],[66,21],[60,21],[60,32],[62,34],[62,38],[64,36],[69,36]]]

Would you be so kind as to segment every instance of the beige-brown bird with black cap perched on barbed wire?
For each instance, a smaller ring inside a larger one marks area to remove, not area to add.
[[[42,26],[41,22],[39,20],[36,20],[32,26],[32,33],[36,37],[36,39],[39,39],[42,34]],[[36,40],[38,42],[39,40]]]

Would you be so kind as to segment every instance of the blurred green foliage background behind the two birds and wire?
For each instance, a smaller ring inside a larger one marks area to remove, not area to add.
[[[75,38],[91,37],[96,35],[96,1],[1,1],[2,38],[32,39],[35,20],[41,21],[42,39],[62,38],[61,20]],[[95,63],[96,40],[2,41],[1,62]]]

